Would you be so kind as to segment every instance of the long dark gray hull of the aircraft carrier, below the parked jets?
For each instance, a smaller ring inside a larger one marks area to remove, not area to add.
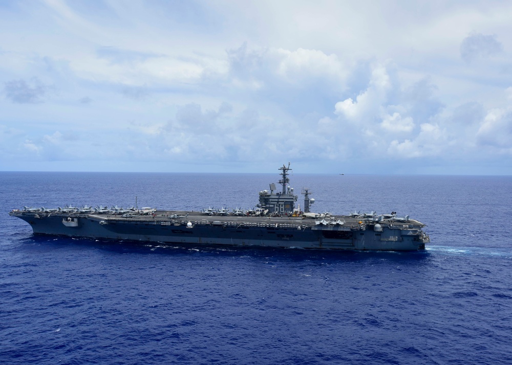
[[[181,219],[159,211],[153,216],[41,213],[11,211],[11,216],[27,221],[34,234],[113,240],[204,245],[257,245],[351,250],[418,250],[429,242],[416,220],[396,222],[361,221],[336,216],[332,222],[294,217],[205,217],[188,212]],[[343,222],[340,223],[340,222]]]

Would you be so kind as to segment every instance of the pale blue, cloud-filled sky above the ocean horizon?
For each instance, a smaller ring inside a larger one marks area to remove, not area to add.
[[[3,0],[0,171],[512,175],[512,2]]]

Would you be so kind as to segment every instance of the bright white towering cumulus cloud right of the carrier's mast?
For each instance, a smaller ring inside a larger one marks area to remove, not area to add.
[[[318,126],[329,124],[331,133],[338,135],[335,143],[350,144],[354,158],[361,151],[388,158],[438,156],[450,148],[446,129],[438,121],[443,105],[435,96],[436,85],[423,78],[401,87],[388,66],[371,67],[367,87],[355,100],[347,98],[334,105],[337,124],[323,118]]]

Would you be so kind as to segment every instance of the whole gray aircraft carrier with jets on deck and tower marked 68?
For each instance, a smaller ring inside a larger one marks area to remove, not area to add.
[[[303,211],[289,184],[288,166],[275,184],[259,193],[253,210],[204,209],[200,212],[152,208],[65,207],[15,209],[10,216],[27,221],[35,235],[150,241],[165,244],[257,245],[313,249],[421,250],[430,242],[423,223],[389,214],[316,214],[309,189],[303,189]]]

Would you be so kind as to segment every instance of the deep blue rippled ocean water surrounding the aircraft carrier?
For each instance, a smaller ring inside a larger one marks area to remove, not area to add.
[[[512,363],[512,177],[290,176],[313,211],[397,211],[425,252],[34,237],[24,205],[252,208],[278,174],[0,172],[0,362]]]

